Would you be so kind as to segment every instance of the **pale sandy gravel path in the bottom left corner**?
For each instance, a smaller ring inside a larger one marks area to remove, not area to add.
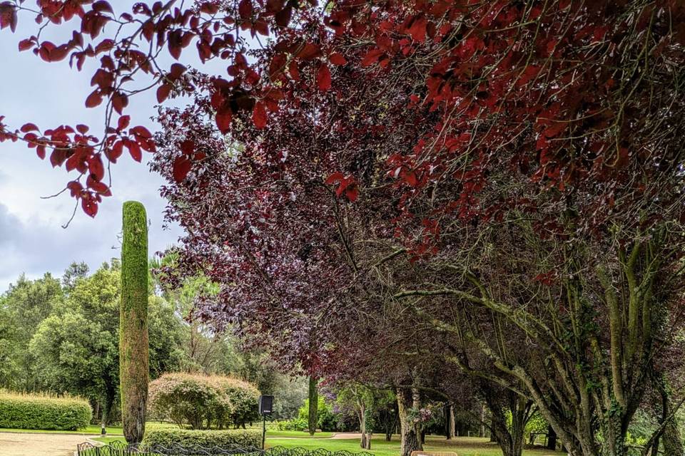
[[[88,437],[92,436],[0,432],[0,456],[72,456],[76,445]]]

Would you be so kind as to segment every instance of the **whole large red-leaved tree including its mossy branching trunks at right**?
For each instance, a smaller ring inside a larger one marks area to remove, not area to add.
[[[679,328],[682,2],[38,4],[80,27],[20,48],[100,58],[86,105],[107,103],[106,130],[0,140],[76,170],[91,215],[103,163],[157,147],[178,274],[221,287],[204,318],[338,373],[372,366],[364,338],[402,352],[420,323],[438,355],[532,398],[573,455],[625,454]],[[0,25],[25,10],[4,1]],[[225,73],[159,68],[191,44]],[[145,88],[193,100],[156,139],[124,113]]]

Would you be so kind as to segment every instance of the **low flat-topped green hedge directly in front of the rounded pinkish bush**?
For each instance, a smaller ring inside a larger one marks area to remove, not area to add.
[[[148,430],[143,437],[143,447],[161,445],[200,445],[201,447],[261,447],[262,432],[259,430]]]

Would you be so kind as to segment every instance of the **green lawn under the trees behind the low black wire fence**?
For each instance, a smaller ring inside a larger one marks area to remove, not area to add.
[[[286,436],[279,435],[278,437],[270,435],[267,431],[266,446],[267,447],[303,447],[308,450],[315,450],[317,448],[325,448],[330,451],[347,450],[350,452],[363,451],[359,447],[359,440],[357,439],[325,439],[323,435],[332,435],[333,432],[318,432],[315,437],[310,437],[306,432],[297,431],[273,431]],[[303,435],[297,437],[296,435]],[[323,440],[325,439],[325,440]],[[93,440],[98,442],[113,442],[115,440],[123,440],[123,437],[97,437]],[[424,450],[427,451],[453,451],[459,456],[502,456],[502,451],[499,450],[497,444],[488,442],[487,438],[480,437],[457,437],[453,440],[445,440],[445,437],[437,435],[429,435],[426,437],[426,445]],[[398,456],[400,454],[400,437],[394,435],[392,441],[386,442],[385,437],[379,435],[373,437],[371,442],[371,450],[368,452],[375,456]],[[566,453],[554,452],[544,449],[529,449],[524,450],[524,456],[561,456]]]

